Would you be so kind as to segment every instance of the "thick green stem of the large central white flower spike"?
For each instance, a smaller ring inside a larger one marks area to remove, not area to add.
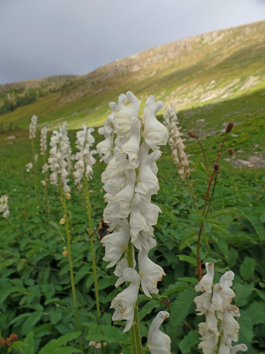
[[[134,245],[131,242],[131,238],[128,244],[128,251],[126,253],[127,253],[126,259],[128,261],[129,268],[134,268]],[[131,336],[132,350],[134,348],[136,350],[135,352],[133,351],[132,353],[142,354],[142,342],[141,342],[141,334],[140,334],[140,326],[139,326],[139,314],[138,314],[137,301],[134,308],[134,322],[133,322],[133,326],[130,329],[130,336]]]

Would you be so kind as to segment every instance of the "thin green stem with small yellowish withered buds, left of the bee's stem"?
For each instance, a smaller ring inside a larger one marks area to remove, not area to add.
[[[72,255],[71,255],[71,244],[70,244],[69,218],[68,218],[67,209],[66,209],[65,195],[64,195],[63,188],[62,188],[60,182],[61,181],[60,181],[60,176],[59,176],[61,202],[63,205],[64,218],[65,218],[65,232],[66,232],[67,252],[68,252],[68,261],[69,261],[69,271],[70,271],[72,294],[73,294],[74,315],[75,315],[75,319],[76,319],[76,329],[78,332],[81,332],[80,331],[80,324],[79,324],[79,316],[78,316],[78,312],[77,312],[75,280],[73,279],[73,263],[72,263]],[[79,336],[79,347],[80,347],[81,353],[84,353],[81,335]]]

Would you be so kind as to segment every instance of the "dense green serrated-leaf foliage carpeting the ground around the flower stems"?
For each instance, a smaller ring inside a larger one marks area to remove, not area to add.
[[[258,98],[255,102],[259,102]],[[236,104],[237,109],[240,101],[232,103]],[[229,113],[228,108],[232,103],[208,106],[208,112],[223,122],[226,119],[223,115]],[[218,111],[221,116],[218,116]],[[190,119],[183,119],[183,128],[188,128],[188,121],[195,125],[196,119],[206,117],[208,112],[202,108],[182,112],[182,118],[186,115]],[[238,118],[238,121],[241,119]],[[207,133],[213,130],[214,124],[211,122],[205,128]],[[246,128],[245,124],[235,126],[235,133],[241,135]],[[254,130],[254,127],[249,129]],[[25,172],[25,164],[30,158],[28,131],[19,130],[17,134],[19,141],[8,146],[4,140],[5,134],[0,137],[0,153],[4,161],[0,166],[0,194],[9,195],[12,222],[11,225],[6,219],[0,218],[0,330],[3,337],[11,333],[18,335],[18,341],[12,344],[14,353],[78,353],[69,265],[67,257],[62,255],[66,238],[64,225],[59,223],[63,217],[59,193],[56,187],[48,184],[51,208],[48,217],[41,184],[38,184],[35,199],[32,179]],[[70,131],[69,136],[73,143],[75,132]],[[99,141],[98,135],[96,138]],[[203,140],[207,157],[211,161],[216,157],[216,144],[219,140],[219,133],[212,133]],[[225,148],[230,147],[233,141],[228,137]],[[194,154],[191,183],[201,210],[208,175],[205,166],[201,164],[201,154],[196,143],[187,141],[187,145],[187,151]],[[20,155],[17,154],[18,150]],[[38,164],[40,182],[43,178],[41,162]],[[160,190],[153,200],[163,213],[154,226],[157,247],[150,251],[149,257],[163,267],[166,276],[158,284],[159,294],[153,295],[152,299],[141,294],[138,306],[143,343],[146,343],[148,327],[155,314],[160,310],[168,310],[170,317],[163,323],[161,330],[171,337],[174,354],[199,352],[198,323],[202,318],[196,316],[193,299],[196,296],[194,285],[197,281],[196,241],[201,222],[205,225],[200,245],[202,263],[215,263],[216,279],[230,269],[235,273],[233,290],[236,297],[233,303],[240,307],[241,312],[238,319],[241,326],[238,343],[245,342],[251,353],[260,353],[265,348],[264,169],[235,169],[222,159],[220,166],[214,199],[205,218],[197,212],[188,181],[182,182],[178,178],[168,147],[164,147],[163,156],[158,161]],[[89,189],[94,191],[91,194],[94,227],[101,219],[105,207],[104,191],[99,182],[103,169],[104,166],[98,162],[89,184]],[[104,313],[101,324],[98,323],[86,233],[87,215],[82,191],[73,183],[71,188],[72,198],[67,201],[67,209],[77,313],[84,352],[90,354],[98,350],[89,346],[90,341],[104,341],[107,343],[106,353],[130,353],[128,333],[122,334],[124,323],[113,325],[113,310],[109,309],[111,300],[119,292],[114,287],[117,278],[113,275],[113,269],[105,269],[106,262],[102,261],[104,248],[95,237],[99,297],[101,313]]]

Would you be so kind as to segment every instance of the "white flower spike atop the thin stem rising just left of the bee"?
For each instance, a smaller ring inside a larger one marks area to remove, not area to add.
[[[96,162],[93,158],[93,154],[96,153],[96,150],[90,151],[90,147],[95,142],[95,138],[91,135],[91,133],[94,132],[94,128],[87,129],[85,125],[83,125],[82,128],[83,130],[76,133],[76,147],[80,151],[75,155],[75,160],[77,160],[75,172],[73,172],[75,183],[80,182],[84,173],[88,179],[92,178],[93,166]]]

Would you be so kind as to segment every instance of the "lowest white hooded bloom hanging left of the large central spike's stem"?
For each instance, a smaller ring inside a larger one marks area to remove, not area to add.
[[[119,293],[111,302],[111,308],[114,308],[112,316],[113,321],[127,320],[125,329],[127,332],[131,328],[134,320],[134,307],[138,297],[140,286],[140,276],[133,268],[125,268],[123,271],[123,278],[129,281],[128,288]]]

